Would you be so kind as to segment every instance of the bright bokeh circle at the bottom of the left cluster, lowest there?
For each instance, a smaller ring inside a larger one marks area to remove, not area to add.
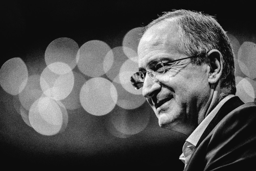
[[[55,135],[63,128],[63,114],[60,106],[49,97],[40,97],[31,105],[29,122],[42,135]]]

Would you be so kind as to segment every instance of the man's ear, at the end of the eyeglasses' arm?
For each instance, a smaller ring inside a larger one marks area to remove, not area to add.
[[[208,82],[209,84],[216,84],[220,80],[223,70],[223,57],[221,53],[213,49],[207,53],[208,57]]]

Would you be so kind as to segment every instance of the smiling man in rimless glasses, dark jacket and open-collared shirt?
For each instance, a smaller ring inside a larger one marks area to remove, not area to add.
[[[211,16],[176,10],[151,22],[133,86],[159,125],[188,136],[184,170],[256,170],[256,105],[235,96],[228,37]]]

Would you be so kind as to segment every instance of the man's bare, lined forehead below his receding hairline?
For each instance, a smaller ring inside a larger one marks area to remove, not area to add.
[[[148,28],[138,45],[139,63],[151,58],[168,55],[177,56],[179,43],[179,26],[175,19],[163,20]]]

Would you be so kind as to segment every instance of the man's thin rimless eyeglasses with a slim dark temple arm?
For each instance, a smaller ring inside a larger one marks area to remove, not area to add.
[[[171,68],[171,64],[173,62],[180,61],[183,59],[188,59],[188,58],[194,58],[194,57],[198,57],[198,56],[190,56],[190,57],[176,59],[168,62],[162,62],[161,59],[153,61],[146,67],[146,71],[144,72],[139,71],[134,73],[130,78],[131,83],[136,90],[140,89],[141,87],[143,87],[146,73],[150,76],[151,79],[155,80],[156,76],[163,75],[164,73],[166,73]]]

